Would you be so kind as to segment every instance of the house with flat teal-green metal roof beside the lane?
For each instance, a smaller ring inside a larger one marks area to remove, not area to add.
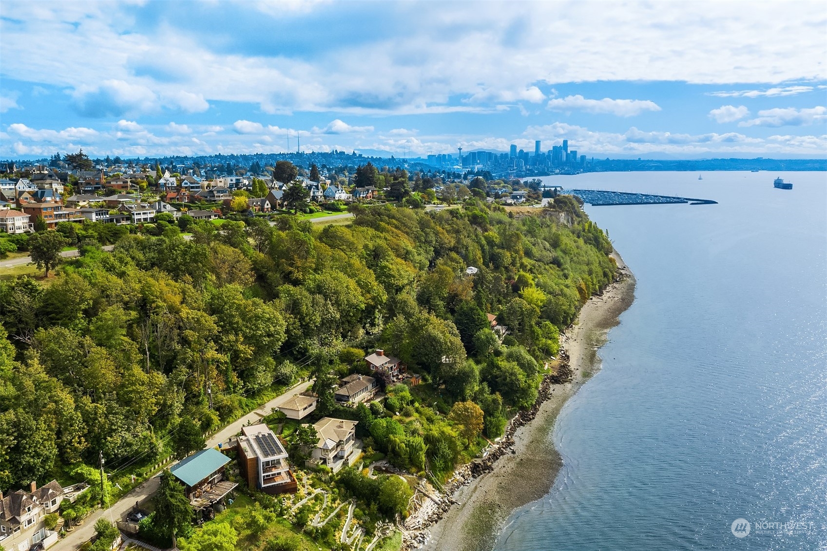
[[[200,510],[222,501],[238,484],[225,480],[224,472],[230,462],[215,448],[203,449],[177,462],[170,472],[184,484],[184,495],[190,505]]]

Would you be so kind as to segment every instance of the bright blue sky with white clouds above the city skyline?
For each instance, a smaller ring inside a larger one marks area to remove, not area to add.
[[[0,158],[815,158],[825,106],[827,2],[0,3]]]

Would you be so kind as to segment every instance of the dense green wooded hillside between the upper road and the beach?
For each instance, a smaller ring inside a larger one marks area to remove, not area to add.
[[[77,260],[0,282],[0,491],[71,482],[98,453],[109,469],[187,453],[299,376],[318,414],[350,413],[391,462],[442,477],[533,404],[560,330],[614,279],[608,237],[571,197],[522,218],[476,198],[351,212],[323,228],[195,222],[189,239],[170,223],[112,252],[78,228]],[[423,384],[342,412],[332,384],[375,348]]]

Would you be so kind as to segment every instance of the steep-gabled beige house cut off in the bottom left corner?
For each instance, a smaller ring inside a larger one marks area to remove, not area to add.
[[[64,491],[57,481],[29,491],[0,492],[0,547],[8,551],[27,551],[34,544],[43,549],[57,541],[57,533],[45,528],[44,517],[54,513],[63,501]]]

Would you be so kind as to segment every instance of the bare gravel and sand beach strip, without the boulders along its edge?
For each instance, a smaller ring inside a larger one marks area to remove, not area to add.
[[[634,299],[635,280],[616,253],[621,279],[603,295],[592,297],[577,322],[561,338],[573,371],[570,382],[552,385],[552,396],[540,406],[537,417],[514,434],[513,453],[506,453],[488,472],[453,496],[456,505],[430,527],[431,537],[422,549],[480,551],[492,549],[511,512],[545,496],[562,467],[562,458],[550,438],[557,414],[571,395],[600,368],[597,350],[610,328]]]

